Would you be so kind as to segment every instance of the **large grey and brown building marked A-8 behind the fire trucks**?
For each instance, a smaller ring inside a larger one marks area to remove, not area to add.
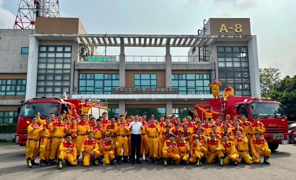
[[[128,111],[184,116],[212,99],[212,79],[236,96],[260,96],[257,38],[249,18],[209,18],[197,35],[87,34],[79,18],[36,18],[35,30],[0,29],[0,123],[16,123],[17,106],[32,97],[108,102],[109,117]],[[145,32],[143,32],[145,33]],[[97,47],[118,47],[98,55]],[[165,48],[133,56],[125,47]],[[187,48],[172,56],[171,47]]]

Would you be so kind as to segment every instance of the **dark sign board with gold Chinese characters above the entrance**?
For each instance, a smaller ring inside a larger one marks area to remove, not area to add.
[[[179,94],[179,88],[113,88],[112,94]]]

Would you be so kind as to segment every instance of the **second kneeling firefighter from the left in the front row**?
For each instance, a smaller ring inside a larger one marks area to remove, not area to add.
[[[81,117],[81,115],[80,115]],[[80,151],[82,152],[83,159],[83,166],[89,166],[89,160],[92,157],[92,165],[99,166],[99,145],[97,144],[97,140],[93,139],[93,132],[88,133],[88,138],[83,141],[81,145]]]

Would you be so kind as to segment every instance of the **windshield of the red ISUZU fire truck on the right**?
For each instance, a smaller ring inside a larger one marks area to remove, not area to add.
[[[252,103],[249,105],[252,115],[285,117],[286,113],[282,104]]]

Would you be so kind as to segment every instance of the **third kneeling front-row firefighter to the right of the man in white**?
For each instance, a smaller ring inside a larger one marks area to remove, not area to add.
[[[189,159],[189,162],[190,163],[195,163],[196,162],[196,164],[195,164],[195,166],[197,166],[197,167],[199,167],[199,166],[203,166],[202,165],[202,162],[201,162],[201,158],[204,156],[204,153],[203,153],[203,151],[202,151],[202,145],[201,145],[201,143],[200,143],[200,137],[199,137],[199,135],[196,135],[195,137],[194,137],[194,140],[195,141],[193,141],[192,142],[192,145],[191,145],[191,157],[190,157],[190,159]]]

